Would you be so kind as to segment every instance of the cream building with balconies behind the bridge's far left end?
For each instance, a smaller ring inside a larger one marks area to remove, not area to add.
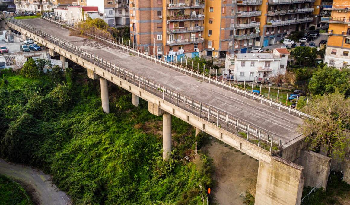
[[[69,5],[77,4],[77,0],[27,0],[14,1],[18,14],[26,12],[41,13],[51,11],[53,8],[64,8]]]

